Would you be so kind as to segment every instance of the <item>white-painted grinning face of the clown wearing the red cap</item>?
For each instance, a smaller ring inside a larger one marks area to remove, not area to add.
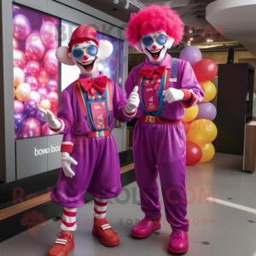
[[[88,41],[81,44],[74,44],[72,49],[76,47],[85,49],[86,46],[90,44],[96,45],[93,41]],[[100,49],[98,49],[98,53],[96,56],[91,56],[91,55],[88,55],[86,52],[84,52],[84,56],[82,56],[79,60],[74,59],[72,55],[71,55],[71,58],[73,60],[73,63],[77,67],[79,67],[81,73],[90,77],[94,73],[96,73],[96,75],[99,73],[98,65],[99,65],[99,62],[101,61],[99,55],[100,55]]]

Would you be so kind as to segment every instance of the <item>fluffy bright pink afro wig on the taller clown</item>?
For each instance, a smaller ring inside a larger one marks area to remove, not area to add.
[[[125,29],[125,38],[134,48],[143,36],[159,30],[165,31],[168,36],[174,38],[174,44],[179,44],[184,34],[184,23],[170,6],[152,4],[139,10],[137,14],[131,14]]]

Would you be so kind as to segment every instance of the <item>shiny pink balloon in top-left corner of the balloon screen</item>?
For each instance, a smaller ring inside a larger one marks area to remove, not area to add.
[[[32,31],[30,21],[25,15],[15,15],[13,19],[13,33],[15,38],[25,41]]]

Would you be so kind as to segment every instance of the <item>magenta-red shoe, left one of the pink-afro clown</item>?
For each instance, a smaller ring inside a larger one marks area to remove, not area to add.
[[[137,238],[150,236],[154,230],[161,228],[160,220],[151,220],[143,218],[132,230],[131,235]]]

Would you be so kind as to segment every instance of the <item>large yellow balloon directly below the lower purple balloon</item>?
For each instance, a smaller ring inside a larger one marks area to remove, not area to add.
[[[217,127],[212,121],[207,119],[198,119],[189,125],[187,140],[193,143],[201,144],[212,143],[217,137]]]

